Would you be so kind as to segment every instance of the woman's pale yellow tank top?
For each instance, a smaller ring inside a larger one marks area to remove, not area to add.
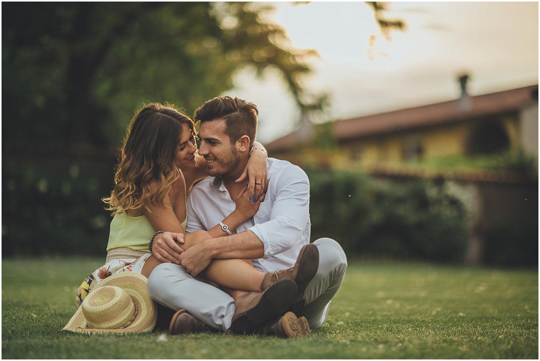
[[[186,188],[186,179],[180,170],[182,180],[184,181],[184,189]],[[182,226],[186,229],[186,219],[182,222]],[[116,215],[111,221],[111,231],[109,233],[109,243],[107,244],[107,252],[113,248],[129,247],[133,250],[150,252],[150,238],[156,231],[150,224],[145,215],[131,217],[126,212],[121,215]]]

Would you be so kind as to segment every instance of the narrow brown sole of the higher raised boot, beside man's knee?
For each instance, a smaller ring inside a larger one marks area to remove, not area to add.
[[[298,258],[300,258],[300,264],[298,265],[298,272],[296,272],[295,279],[296,286],[298,286],[298,293],[291,307],[291,311],[297,317],[302,313],[303,306],[306,303],[304,293],[306,292],[307,285],[315,277],[319,269],[319,250],[313,243],[305,245],[300,251]]]

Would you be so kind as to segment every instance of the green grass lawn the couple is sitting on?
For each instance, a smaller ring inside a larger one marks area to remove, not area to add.
[[[3,259],[2,358],[538,358],[538,271],[350,262],[303,339],[60,331],[102,259]]]

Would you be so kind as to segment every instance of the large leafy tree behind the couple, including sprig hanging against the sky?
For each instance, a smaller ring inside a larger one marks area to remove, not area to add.
[[[383,29],[383,3],[369,3]],[[59,149],[117,146],[133,106],[170,101],[188,112],[230,89],[252,65],[279,69],[302,109],[324,95],[301,84],[314,50],[291,49],[264,3],[6,3],[3,130]],[[13,144],[15,143],[15,144]],[[20,142],[5,142],[10,151]]]

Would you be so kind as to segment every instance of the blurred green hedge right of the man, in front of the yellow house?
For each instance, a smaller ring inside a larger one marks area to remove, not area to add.
[[[462,260],[468,213],[447,185],[385,182],[346,171],[307,174],[312,239],[331,237],[362,255]]]

